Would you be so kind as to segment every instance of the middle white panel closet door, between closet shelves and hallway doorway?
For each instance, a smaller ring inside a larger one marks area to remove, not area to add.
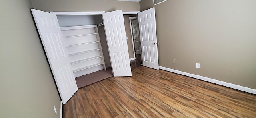
[[[132,76],[122,10],[102,14],[115,77]]]

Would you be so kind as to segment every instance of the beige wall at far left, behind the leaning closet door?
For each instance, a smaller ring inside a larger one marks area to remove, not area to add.
[[[60,118],[60,97],[30,8],[30,0],[0,0],[0,118]]]

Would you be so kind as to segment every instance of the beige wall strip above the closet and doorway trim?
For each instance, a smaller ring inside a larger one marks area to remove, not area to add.
[[[113,0],[31,0],[35,9],[42,11],[140,11],[139,2]]]

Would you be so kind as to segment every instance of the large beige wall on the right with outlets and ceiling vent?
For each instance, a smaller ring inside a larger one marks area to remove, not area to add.
[[[152,4],[142,0],[140,10]],[[168,0],[154,7],[160,66],[256,89],[255,0]]]

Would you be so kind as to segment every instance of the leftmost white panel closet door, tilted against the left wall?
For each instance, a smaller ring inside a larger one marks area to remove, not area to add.
[[[55,14],[32,9],[40,38],[63,104],[78,90],[70,61],[62,44],[60,26]],[[40,68],[40,67],[38,67]]]

